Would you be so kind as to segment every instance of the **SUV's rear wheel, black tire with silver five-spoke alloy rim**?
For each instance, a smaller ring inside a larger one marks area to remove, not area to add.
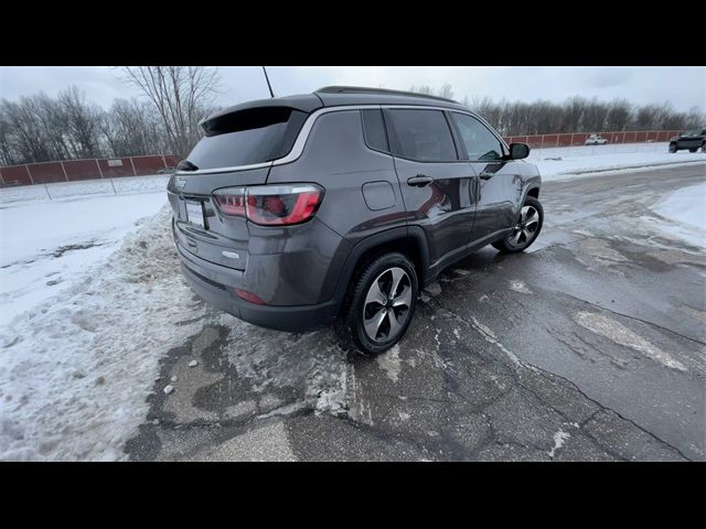
[[[378,355],[405,334],[417,306],[418,281],[413,262],[398,252],[368,261],[354,277],[339,323],[344,346]]]

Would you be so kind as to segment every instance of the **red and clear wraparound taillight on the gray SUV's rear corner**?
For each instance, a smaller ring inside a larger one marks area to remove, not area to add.
[[[225,215],[246,217],[261,226],[285,226],[313,217],[323,188],[315,184],[228,187],[216,191],[213,198]]]

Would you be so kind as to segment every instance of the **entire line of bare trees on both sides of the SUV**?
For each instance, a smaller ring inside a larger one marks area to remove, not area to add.
[[[108,109],[90,102],[75,86],[50,97],[43,93],[0,100],[0,164],[82,158],[175,154],[185,158],[199,141],[199,122],[213,110],[218,87],[214,68],[140,66],[120,69],[142,98],[116,99]],[[453,89],[413,86],[410,91],[449,99]],[[462,102],[502,136],[621,130],[678,130],[704,127],[698,107],[688,112],[668,102],[633,105],[571,97],[564,102],[495,101],[468,96]]]

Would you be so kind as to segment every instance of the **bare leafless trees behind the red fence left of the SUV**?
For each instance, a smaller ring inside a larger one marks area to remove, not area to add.
[[[121,68],[142,98],[116,99],[107,110],[75,86],[0,100],[0,165],[176,154],[185,158],[201,138],[199,122],[214,106],[217,71],[201,66]]]

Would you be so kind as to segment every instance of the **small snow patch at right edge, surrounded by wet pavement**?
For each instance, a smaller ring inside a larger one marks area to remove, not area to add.
[[[652,210],[664,219],[657,224],[662,231],[706,247],[706,182],[675,191],[657,202]]]

